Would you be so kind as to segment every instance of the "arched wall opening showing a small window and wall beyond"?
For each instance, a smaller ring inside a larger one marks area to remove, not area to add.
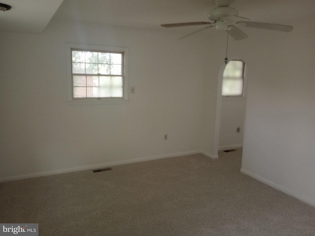
[[[247,66],[242,59],[223,63],[218,77],[215,151],[243,147]]]

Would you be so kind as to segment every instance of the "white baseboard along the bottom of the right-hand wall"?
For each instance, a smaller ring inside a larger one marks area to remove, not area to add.
[[[253,177],[254,179],[257,179],[258,181],[263,182],[263,183],[265,183],[265,184],[267,184],[267,185],[269,185],[269,186],[271,186],[271,187],[273,187],[275,189],[278,189],[279,191],[284,192],[284,193],[286,193],[286,194],[288,194],[288,195],[290,195],[290,196],[300,200],[301,202],[304,202],[306,204],[311,205],[312,207],[315,207],[315,199],[314,198],[309,198],[309,197],[303,196],[303,195],[301,195],[299,193],[293,192],[293,191],[291,191],[291,190],[289,190],[287,188],[284,188],[283,186],[281,186],[279,184],[276,184],[276,183],[274,183],[272,181],[269,181],[268,179],[265,179],[263,177],[260,177],[260,176],[257,176],[255,174],[253,174],[252,172],[244,170],[243,168],[241,169],[241,172],[243,174],[248,175],[250,177]]]

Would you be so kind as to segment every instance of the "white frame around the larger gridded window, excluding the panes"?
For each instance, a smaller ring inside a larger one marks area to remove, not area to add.
[[[111,53],[124,53],[124,66],[123,66],[123,97],[122,98],[107,98],[107,97],[94,97],[94,98],[74,98],[73,97],[73,80],[72,80],[72,49],[78,50],[91,50],[91,51],[105,51]],[[114,102],[126,102],[129,100],[129,49],[126,47],[110,47],[99,45],[87,45],[87,44],[74,44],[66,43],[66,66],[67,66],[67,101],[69,102],[102,102],[102,103],[114,103]]]

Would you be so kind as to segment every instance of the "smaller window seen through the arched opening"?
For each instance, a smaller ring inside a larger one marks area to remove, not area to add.
[[[222,96],[243,96],[245,63],[230,60],[225,66],[222,81]]]

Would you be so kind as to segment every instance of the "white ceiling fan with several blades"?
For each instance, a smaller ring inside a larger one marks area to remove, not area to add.
[[[208,15],[209,22],[186,22],[175,24],[163,24],[162,27],[182,27],[182,26],[198,26],[205,25],[205,28],[195,30],[181,38],[188,37],[192,34],[200,32],[210,27],[216,27],[218,30],[225,30],[235,40],[245,39],[248,36],[238,27],[251,27],[259,29],[272,29],[283,32],[289,32],[293,29],[292,26],[270,24],[262,22],[253,22],[250,19],[238,16],[238,11],[230,7],[232,0],[215,0],[216,8],[212,9]]]

